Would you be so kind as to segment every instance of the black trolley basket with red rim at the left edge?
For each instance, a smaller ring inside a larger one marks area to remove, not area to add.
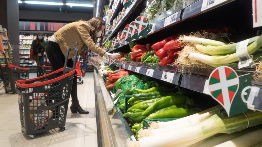
[[[4,64],[0,64],[0,77],[4,82],[4,90],[6,93],[13,92],[16,94],[16,84],[17,80],[29,79],[29,68],[22,68],[8,63],[6,54],[4,55]]]

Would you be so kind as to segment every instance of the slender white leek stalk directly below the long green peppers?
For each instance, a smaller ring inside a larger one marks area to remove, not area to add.
[[[221,105],[217,105],[217,106],[214,106],[212,108],[201,111],[199,113],[196,113],[196,114],[193,114],[193,115],[190,115],[190,116],[187,116],[187,117],[179,118],[177,120],[166,121],[166,122],[153,122],[153,123],[151,123],[149,129],[169,127],[169,126],[172,126],[172,125],[183,123],[185,121],[188,121],[188,120],[191,120],[191,119],[194,119],[194,118],[198,118],[199,121],[204,121],[205,119],[207,119],[207,118],[209,118],[210,116],[213,115],[213,114],[208,114],[208,112],[220,110],[222,108],[223,107]],[[205,114],[205,115],[202,115],[202,114]]]

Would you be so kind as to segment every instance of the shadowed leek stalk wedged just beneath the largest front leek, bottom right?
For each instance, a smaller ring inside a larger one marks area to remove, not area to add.
[[[240,131],[240,132],[234,132],[232,134],[224,134],[224,135],[220,135],[220,136],[217,136],[217,137],[211,137],[209,140],[198,145],[198,147],[212,147],[212,146],[224,143],[228,140],[242,136],[244,134],[250,133],[252,131],[256,131],[258,129],[259,129],[258,127],[250,127],[250,128],[244,129],[243,131]]]

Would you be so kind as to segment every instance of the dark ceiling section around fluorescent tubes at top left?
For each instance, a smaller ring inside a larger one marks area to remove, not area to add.
[[[23,1],[23,0],[22,0]],[[30,0],[30,1],[42,1],[42,0]],[[79,3],[79,4],[92,4],[92,0],[49,0],[46,2],[62,2],[62,3]],[[19,10],[29,11],[49,11],[49,12],[68,12],[68,13],[93,13],[92,7],[79,7],[67,5],[43,5],[43,4],[26,4],[19,3]]]

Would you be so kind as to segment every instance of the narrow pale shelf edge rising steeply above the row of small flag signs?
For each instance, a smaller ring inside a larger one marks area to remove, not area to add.
[[[142,0],[135,0],[132,5],[130,5],[128,11],[125,11],[125,15],[119,20],[118,24],[114,27],[112,30],[111,35],[108,38],[111,38],[116,31],[119,29],[119,27],[124,23],[124,21],[132,14],[132,12],[135,10],[135,8],[140,4]]]

